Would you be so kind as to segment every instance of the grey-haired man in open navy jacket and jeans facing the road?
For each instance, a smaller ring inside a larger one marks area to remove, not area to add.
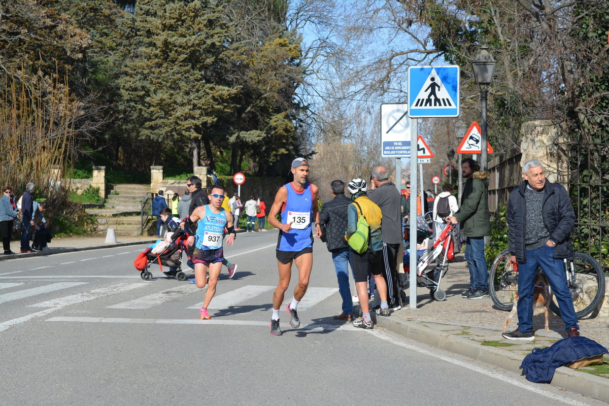
[[[577,316],[561,261],[573,255],[569,233],[575,211],[565,188],[546,180],[537,159],[524,163],[523,177],[523,183],[510,193],[507,206],[510,259],[518,263],[518,328],[502,335],[509,340],[535,340],[533,289],[539,265],[556,296],[568,337],[578,337]]]

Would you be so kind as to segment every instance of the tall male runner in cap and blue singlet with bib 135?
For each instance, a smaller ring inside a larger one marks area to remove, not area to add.
[[[290,285],[292,262],[295,262],[298,268],[298,284],[294,288],[294,299],[287,305],[286,311],[290,315],[290,326],[300,326],[296,306],[305,296],[309,286],[313,267],[311,225],[319,223],[317,186],[307,182],[309,163],[305,158],[296,158],[292,161],[291,172],[294,174],[294,181],[280,187],[269,211],[269,223],[279,229],[276,250],[279,283],[273,293],[273,315],[270,322],[272,335],[281,335],[279,309],[284,293]],[[281,214],[281,222],[275,218],[278,214]],[[321,236],[319,229],[315,234],[318,238]]]

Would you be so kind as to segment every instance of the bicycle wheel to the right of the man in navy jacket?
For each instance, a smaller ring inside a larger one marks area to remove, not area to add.
[[[585,317],[599,306],[605,296],[605,272],[596,259],[584,253],[576,253],[567,260],[567,263],[569,265],[572,263],[575,270],[574,278],[568,281],[575,315],[577,318]],[[552,295],[550,309],[560,316],[560,309],[554,295]]]

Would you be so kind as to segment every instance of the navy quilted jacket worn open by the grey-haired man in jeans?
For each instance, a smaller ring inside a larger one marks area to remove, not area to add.
[[[527,184],[529,183],[526,180],[523,181],[510,193],[510,202],[507,205],[510,254],[515,255],[516,260],[521,264],[527,262],[524,248],[524,229],[527,217],[527,202],[524,192]],[[569,233],[571,233],[571,228],[575,224],[575,211],[565,187],[546,180],[541,215],[543,216],[543,223],[550,233],[549,239],[557,242],[554,258],[563,259],[573,256],[573,245]]]

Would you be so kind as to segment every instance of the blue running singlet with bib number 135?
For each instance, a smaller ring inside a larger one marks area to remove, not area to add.
[[[310,183],[305,183],[305,189],[300,193],[294,190],[291,182],[284,186],[287,198],[281,211],[281,223],[292,222],[292,229],[289,233],[279,231],[277,249],[298,252],[313,246],[313,191]]]

